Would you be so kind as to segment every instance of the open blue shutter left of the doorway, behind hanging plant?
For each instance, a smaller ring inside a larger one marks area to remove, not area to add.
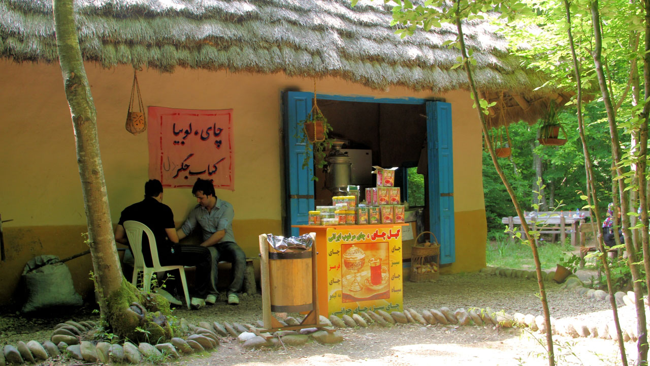
[[[284,135],[285,135],[285,170],[287,192],[286,232],[298,236],[298,229],[291,225],[307,225],[308,211],[314,207],[314,183],[311,180],[313,172],[302,167],[305,158],[305,144],[299,143],[297,136],[304,134],[298,128],[298,122],[307,117],[311,111],[311,92],[285,92],[284,94]],[[313,166],[313,157],[309,158]]]

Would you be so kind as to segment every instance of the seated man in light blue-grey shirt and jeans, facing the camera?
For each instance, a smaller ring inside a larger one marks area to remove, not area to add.
[[[190,211],[187,220],[177,234],[179,239],[188,236],[196,225],[200,225],[203,242],[201,247],[208,247],[213,260],[210,281],[216,287],[217,264],[220,259],[233,264],[233,281],[228,287],[228,303],[237,305],[237,292],[244,283],[246,270],[246,255],[235,242],[233,235],[233,217],[235,211],[232,204],[216,197],[214,186],[210,180],[198,178],[192,188],[192,194],[198,204]],[[207,302],[207,300],[206,300]]]

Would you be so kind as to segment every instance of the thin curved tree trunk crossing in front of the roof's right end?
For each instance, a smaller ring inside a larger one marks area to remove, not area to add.
[[[460,43],[460,52],[461,52],[461,57],[463,58],[463,64],[465,66],[465,72],[467,72],[467,81],[469,83],[470,91],[472,95],[474,96],[474,102],[476,102],[476,111],[478,113],[478,119],[481,122],[481,128],[483,130],[483,135],[488,136],[487,132],[487,123],[485,119],[485,115],[483,114],[482,108],[480,107],[480,101],[478,100],[478,91],[476,90],[476,84],[474,84],[474,77],[472,75],[472,70],[471,70],[471,63],[469,61],[469,58],[467,57],[467,48],[465,47],[465,38],[463,36],[463,27],[461,25],[460,21],[460,2],[461,0],[456,0],[455,5],[456,5],[456,16],[454,18],[454,23],[456,23],[456,29],[458,29],[458,42]],[[492,158],[492,163],[494,164],[495,169],[497,169],[497,173],[499,174],[501,181],[503,182],[503,185],[506,188],[506,191],[508,191],[508,194],[510,195],[510,199],[512,200],[513,206],[515,206],[515,210],[517,211],[517,215],[519,216],[519,219],[521,219],[521,228],[526,234],[526,238],[528,240],[528,243],[530,244],[530,248],[532,249],[532,255],[533,259],[535,262],[535,269],[537,272],[537,282],[539,285],[539,298],[541,300],[541,305],[544,313],[544,320],[545,320],[545,325],[546,325],[546,344],[547,344],[547,352],[549,356],[549,366],[554,366],[555,365],[555,354],[553,352],[553,339],[552,339],[552,329],[551,329],[551,313],[549,313],[549,303],[546,300],[546,289],[544,287],[544,281],[543,281],[543,275],[541,272],[541,263],[539,262],[539,255],[537,251],[537,245],[535,243],[535,239],[533,238],[532,234],[530,233],[530,229],[528,228],[528,224],[526,223],[525,215],[523,211],[521,210],[521,206],[519,205],[519,201],[517,200],[517,197],[515,196],[515,192],[512,190],[512,186],[510,186],[510,182],[508,182],[508,178],[506,178],[506,175],[504,175],[503,170],[499,166],[499,162],[497,161],[497,155],[495,154],[494,148],[492,146],[491,141],[489,139],[485,139],[486,141],[486,146],[487,150],[489,151],[489,154]]]

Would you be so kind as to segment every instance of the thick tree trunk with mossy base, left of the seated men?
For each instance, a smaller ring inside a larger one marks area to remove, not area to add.
[[[142,339],[145,335],[155,339],[159,336],[169,337],[172,330],[168,322],[161,324],[160,318],[152,321],[161,311],[170,315],[169,303],[161,296],[141,294],[122,276],[99,154],[96,109],[79,48],[73,0],[53,0],[53,5],[57,51],[77,145],[88,245],[102,320],[120,337],[133,340]],[[147,311],[133,311],[133,303],[142,305]],[[138,332],[136,327],[145,331]]]

